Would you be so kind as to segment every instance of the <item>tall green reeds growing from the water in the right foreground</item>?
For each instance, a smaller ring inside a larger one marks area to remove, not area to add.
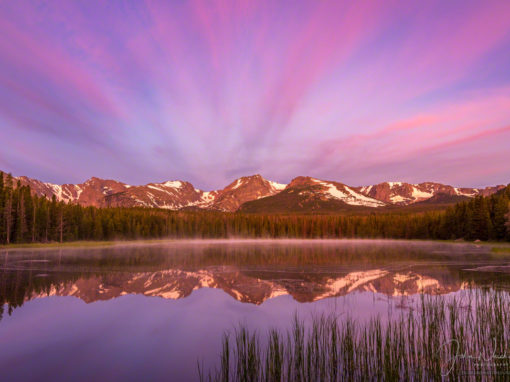
[[[422,295],[395,317],[363,323],[333,315],[264,335],[223,337],[209,381],[510,380],[510,293],[473,289]]]

